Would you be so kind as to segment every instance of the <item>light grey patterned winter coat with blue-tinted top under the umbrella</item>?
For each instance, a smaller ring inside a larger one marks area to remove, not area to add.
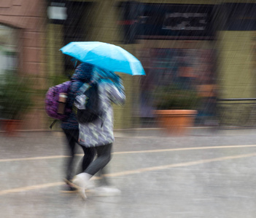
[[[108,145],[114,142],[112,102],[123,105],[125,92],[122,82],[114,84],[109,79],[98,81],[101,118],[88,124],[79,124],[79,144],[85,147]]]

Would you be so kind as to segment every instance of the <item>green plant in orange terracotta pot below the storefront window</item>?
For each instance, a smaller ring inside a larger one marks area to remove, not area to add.
[[[155,115],[160,126],[169,134],[184,134],[192,126],[197,114],[199,97],[195,90],[177,85],[162,86],[155,90]]]

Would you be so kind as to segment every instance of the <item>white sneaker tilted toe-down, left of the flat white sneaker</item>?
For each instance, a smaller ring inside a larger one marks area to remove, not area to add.
[[[85,188],[88,187],[90,177],[91,176],[86,173],[77,174],[72,181],[73,186],[77,188],[79,195],[81,195],[84,200],[87,198]]]

